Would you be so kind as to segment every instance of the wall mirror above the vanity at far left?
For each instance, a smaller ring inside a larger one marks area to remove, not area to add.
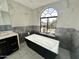
[[[11,19],[7,0],[0,0],[0,31],[11,30]]]

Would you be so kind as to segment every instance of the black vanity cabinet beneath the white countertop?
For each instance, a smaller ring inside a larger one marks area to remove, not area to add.
[[[0,40],[0,56],[6,57],[18,49],[17,35]]]

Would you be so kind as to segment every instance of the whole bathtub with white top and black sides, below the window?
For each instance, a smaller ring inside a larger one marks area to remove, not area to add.
[[[58,40],[36,33],[25,38],[26,44],[45,59],[54,59],[59,53]]]

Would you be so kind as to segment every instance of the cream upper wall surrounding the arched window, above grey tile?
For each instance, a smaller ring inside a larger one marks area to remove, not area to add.
[[[33,10],[33,25],[40,26],[40,15],[45,8],[53,7],[58,11],[57,27],[79,29],[79,0],[60,0]]]

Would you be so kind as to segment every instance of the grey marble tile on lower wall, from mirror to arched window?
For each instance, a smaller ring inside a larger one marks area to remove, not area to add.
[[[25,36],[31,31],[40,31],[40,26],[18,26],[12,28],[14,32],[19,34],[20,43],[25,41]]]

